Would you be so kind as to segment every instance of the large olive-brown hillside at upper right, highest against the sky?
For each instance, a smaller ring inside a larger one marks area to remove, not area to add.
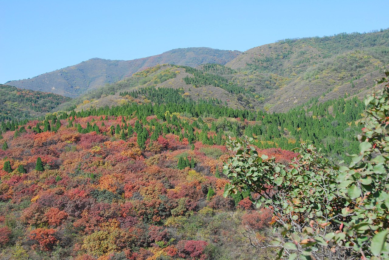
[[[363,97],[389,65],[388,39],[387,29],[286,39],[247,50],[226,66],[237,71],[233,82],[263,98],[261,108],[287,111],[313,97]]]

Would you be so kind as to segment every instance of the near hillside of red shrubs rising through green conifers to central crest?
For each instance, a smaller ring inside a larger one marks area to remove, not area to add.
[[[297,156],[286,149],[301,142],[344,159],[358,149],[364,104],[312,100],[288,113],[252,113],[154,86],[180,73],[195,89],[215,79],[157,66],[107,86],[133,87],[119,92],[125,102],[118,106],[1,122],[0,258],[272,259],[272,248],[242,246],[257,234],[269,239],[271,211],[255,210],[245,189],[223,197],[229,136],[252,137],[259,153],[282,164]],[[140,81],[144,87],[135,88]]]

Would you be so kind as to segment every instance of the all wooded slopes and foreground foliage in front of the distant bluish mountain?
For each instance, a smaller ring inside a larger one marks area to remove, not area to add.
[[[0,258],[387,259],[387,34],[1,85]]]

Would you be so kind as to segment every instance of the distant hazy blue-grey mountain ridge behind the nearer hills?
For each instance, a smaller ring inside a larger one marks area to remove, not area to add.
[[[159,55],[131,61],[89,59],[74,66],[25,79],[8,81],[19,88],[53,92],[67,97],[77,97],[87,90],[114,83],[137,71],[163,63],[198,66],[204,63],[226,64],[241,52],[205,47],[173,49]]]

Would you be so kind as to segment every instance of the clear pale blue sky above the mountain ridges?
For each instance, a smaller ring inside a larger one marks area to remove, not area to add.
[[[186,47],[245,51],[284,38],[385,29],[387,9],[387,1],[373,0],[0,0],[0,83],[93,57],[130,60]]]

